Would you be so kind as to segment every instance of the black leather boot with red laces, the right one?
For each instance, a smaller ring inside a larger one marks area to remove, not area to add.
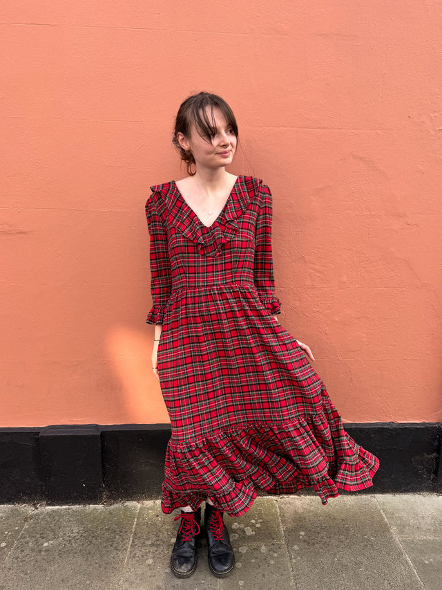
[[[225,578],[232,573],[235,566],[235,554],[222,515],[221,510],[206,502],[204,528],[206,529],[209,567],[217,578]]]

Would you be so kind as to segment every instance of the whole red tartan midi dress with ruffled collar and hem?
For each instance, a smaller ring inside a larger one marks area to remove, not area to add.
[[[172,436],[162,510],[209,497],[231,516],[256,490],[313,487],[323,504],[372,486],[378,459],[343,429],[325,385],[280,313],[269,187],[239,176],[207,227],[175,181],[146,202],[148,324],[162,324],[157,367]]]

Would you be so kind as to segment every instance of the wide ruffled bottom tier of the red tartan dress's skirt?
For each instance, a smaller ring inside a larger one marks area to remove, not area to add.
[[[322,503],[338,489],[373,485],[378,458],[325,414],[285,424],[236,425],[195,441],[169,441],[162,510],[196,510],[206,497],[231,516],[249,510],[257,490],[293,494],[313,488]]]

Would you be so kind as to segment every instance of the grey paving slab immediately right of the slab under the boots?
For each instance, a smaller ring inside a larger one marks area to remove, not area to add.
[[[420,590],[422,584],[374,497],[281,498],[297,588]]]

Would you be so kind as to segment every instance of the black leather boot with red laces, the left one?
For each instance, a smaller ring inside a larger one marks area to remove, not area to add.
[[[181,519],[171,555],[171,569],[177,578],[189,578],[198,563],[198,535],[200,534],[201,506],[195,512],[184,512],[174,518]]]

